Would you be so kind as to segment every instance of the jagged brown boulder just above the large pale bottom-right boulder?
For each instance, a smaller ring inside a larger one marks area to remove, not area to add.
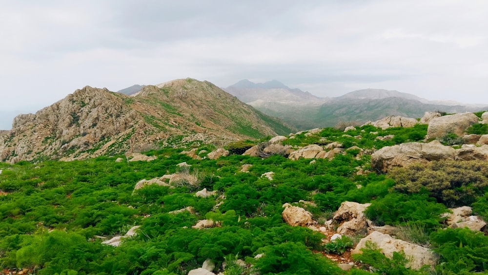
[[[341,207],[334,213],[334,219],[340,226],[337,228],[337,233],[342,235],[354,235],[359,232],[366,231],[369,222],[364,211],[370,203],[360,204],[357,202],[343,202]]]

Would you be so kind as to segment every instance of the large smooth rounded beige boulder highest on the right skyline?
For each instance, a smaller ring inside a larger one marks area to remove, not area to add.
[[[475,123],[478,123],[478,117],[473,113],[436,117],[428,124],[426,138],[441,137],[447,133],[463,136],[466,129]]]

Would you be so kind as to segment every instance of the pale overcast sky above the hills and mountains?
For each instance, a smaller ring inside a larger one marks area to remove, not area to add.
[[[0,3],[0,129],[85,85],[186,77],[488,103],[486,0]]]

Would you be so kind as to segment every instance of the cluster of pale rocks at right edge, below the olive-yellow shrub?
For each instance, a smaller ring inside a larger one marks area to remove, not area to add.
[[[468,206],[450,208],[452,213],[447,214],[446,223],[450,228],[469,228],[472,231],[481,231],[487,225],[483,218],[474,216]]]

